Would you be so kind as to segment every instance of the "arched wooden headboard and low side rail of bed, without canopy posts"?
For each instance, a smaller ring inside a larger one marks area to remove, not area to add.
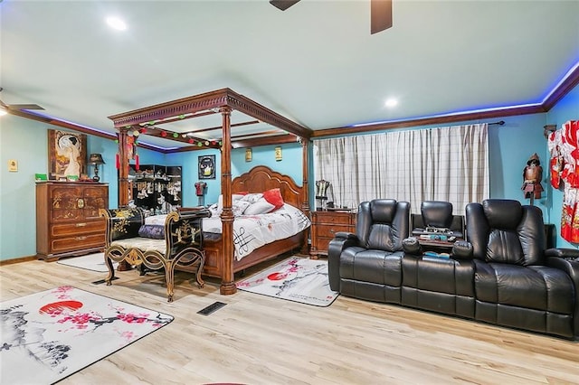
[[[248,173],[233,179],[232,182],[233,193],[264,192],[273,188],[280,189],[284,202],[301,209],[309,217],[308,204],[304,204],[304,196],[307,195],[307,192],[304,192],[288,175],[280,174],[269,167],[258,165],[253,167]],[[231,266],[224,265],[229,262],[226,262],[226,258],[223,258],[222,244],[223,242],[233,244],[233,235],[223,234],[220,239],[204,239],[204,274],[210,277],[221,277],[223,283],[224,274],[228,270],[233,271],[233,274],[235,274],[245,268],[250,268],[292,250],[308,254],[308,230],[303,230],[287,239],[276,240],[259,249],[255,249],[241,260],[233,258]],[[190,271],[186,267],[177,267],[177,269]]]

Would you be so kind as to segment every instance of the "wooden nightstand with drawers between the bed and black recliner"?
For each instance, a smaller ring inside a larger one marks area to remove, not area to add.
[[[356,212],[352,211],[311,211],[312,257],[327,255],[327,244],[337,232],[356,232]]]

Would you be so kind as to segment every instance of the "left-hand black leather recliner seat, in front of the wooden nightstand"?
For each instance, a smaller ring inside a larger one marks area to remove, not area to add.
[[[346,296],[400,303],[402,241],[408,238],[410,203],[362,202],[356,234],[338,232],[329,242],[329,285]]]

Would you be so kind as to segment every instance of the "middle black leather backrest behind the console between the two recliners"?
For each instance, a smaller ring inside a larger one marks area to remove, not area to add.
[[[428,230],[448,229],[449,232],[441,232],[456,239],[464,238],[464,217],[454,215],[451,202],[424,201],[420,205],[420,214],[411,214],[410,226],[412,234],[418,237],[423,234],[431,234]],[[436,233],[432,233],[436,234]]]

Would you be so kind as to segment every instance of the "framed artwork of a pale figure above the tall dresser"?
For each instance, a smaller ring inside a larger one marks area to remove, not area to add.
[[[86,174],[87,136],[69,131],[48,130],[48,167],[51,180]]]

